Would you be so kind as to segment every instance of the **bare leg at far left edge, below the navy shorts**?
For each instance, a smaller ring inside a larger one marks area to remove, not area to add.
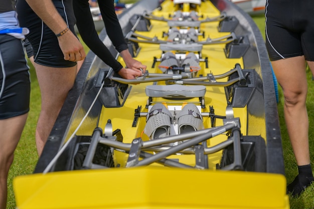
[[[28,114],[0,120],[0,208],[6,208],[8,173]]]

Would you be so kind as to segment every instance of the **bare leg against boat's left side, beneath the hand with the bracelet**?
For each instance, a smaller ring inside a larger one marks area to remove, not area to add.
[[[39,155],[43,151],[68,92],[73,87],[76,68],[76,66],[52,68],[35,63],[42,101],[36,127],[36,146]]]

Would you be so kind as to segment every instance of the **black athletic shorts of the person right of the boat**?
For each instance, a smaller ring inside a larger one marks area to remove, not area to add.
[[[265,17],[271,61],[302,55],[314,61],[313,0],[267,0]]]

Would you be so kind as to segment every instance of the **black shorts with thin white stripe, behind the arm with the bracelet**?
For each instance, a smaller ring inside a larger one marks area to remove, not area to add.
[[[40,2],[38,1],[38,4]],[[74,25],[76,21],[72,0],[53,0],[53,3],[69,29],[75,34]],[[17,13],[19,14],[20,26],[30,30],[26,38],[32,45],[34,62],[55,68],[67,68],[76,65],[76,62],[64,60],[64,55],[59,47],[55,33],[44,24],[25,0],[18,0]]]

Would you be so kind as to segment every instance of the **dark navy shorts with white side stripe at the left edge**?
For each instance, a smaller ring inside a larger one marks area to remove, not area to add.
[[[0,119],[28,113],[30,74],[20,39],[0,35]]]

